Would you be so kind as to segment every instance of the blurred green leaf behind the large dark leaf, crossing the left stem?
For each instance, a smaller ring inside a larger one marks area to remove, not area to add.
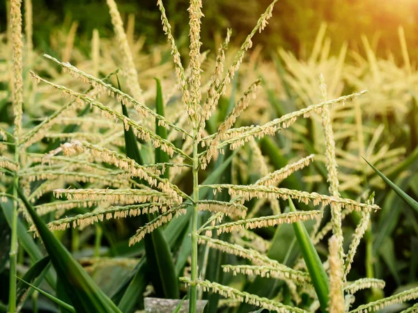
[[[8,200],[7,202],[0,203],[0,207],[3,210],[4,217],[7,220],[9,227],[12,225],[12,216],[13,216],[13,201]],[[19,218],[17,219],[17,239],[19,240],[19,244],[24,248],[26,253],[29,255],[31,262],[36,263],[40,259],[44,257],[40,248],[36,245],[35,241],[33,240],[32,236],[27,232],[26,226],[22,223],[22,220]],[[56,286],[56,273],[49,269],[47,272],[45,279],[47,280],[49,286],[52,289]]]

